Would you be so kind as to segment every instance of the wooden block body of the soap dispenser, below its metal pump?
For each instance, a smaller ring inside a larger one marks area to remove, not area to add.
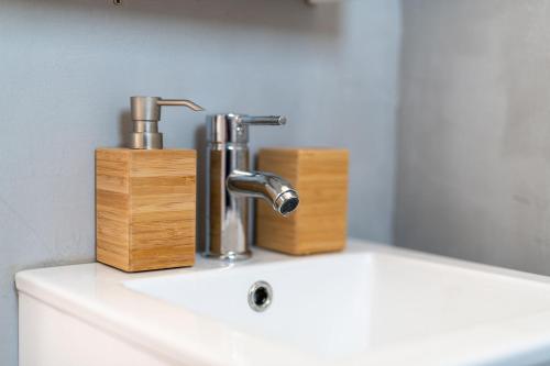
[[[193,266],[195,217],[195,151],[96,151],[98,262],[125,271]]]

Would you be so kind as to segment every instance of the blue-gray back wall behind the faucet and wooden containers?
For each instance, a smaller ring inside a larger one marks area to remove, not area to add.
[[[392,241],[397,0],[0,0],[0,365],[16,364],[13,274],[95,256],[94,149],[131,95],[284,113],[255,146],[351,149],[350,233]],[[167,147],[202,114],[167,110]]]

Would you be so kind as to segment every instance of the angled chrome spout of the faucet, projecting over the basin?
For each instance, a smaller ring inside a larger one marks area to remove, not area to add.
[[[266,200],[283,217],[295,211],[299,203],[294,187],[271,173],[233,170],[227,178],[227,186],[231,193]]]

